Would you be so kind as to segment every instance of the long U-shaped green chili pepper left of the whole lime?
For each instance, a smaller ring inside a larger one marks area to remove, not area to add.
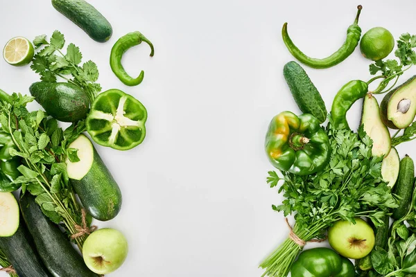
[[[359,5],[357,8],[358,12],[356,19],[354,23],[347,29],[347,39],[345,40],[343,46],[341,46],[338,51],[329,57],[316,59],[313,57],[308,57],[302,53],[302,51],[300,51],[299,48],[297,48],[297,46],[295,46],[295,44],[292,42],[291,37],[289,37],[287,23],[285,23],[281,29],[281,36],[283,37],[284,44],[286,44],[286,47],[291,52],[293,57],[297,58],[297,60],[303,64],[313,67],[314,69],[327,69],[331,66],[335,66],[336,64],[339,64],[345,60],[349,55],[351,55],[358,45],[358,42],[360,41],[361,28],[358,26],[358,17],[360,17],[361,9],[363,6]]]

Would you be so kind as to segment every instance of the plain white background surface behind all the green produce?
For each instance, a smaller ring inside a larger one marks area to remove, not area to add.
[[[104,90],[122,89],[148,109],[144,143],[128,152],[97,147],[121,187],[123,207],[116,219],[96,224],[122,231],[130,247],[123,267],[108,276],[260,276],[259,262],[288,234],[283,215],[271,209],[281,197],[265,181],[272,166],[263,139],[272,116],[300,112],[281,73],[293,60],[281,26],[288,21],[294,42],[306,54],[324,57],[343,43],[359,2],[90,0],[113,26],[105,44],[90,39],[50,1],[1,2],[0,48],[11,37],[33,39],[58,29],[80,47],[84,62],[98,64]],[[361,4],[363,33],[374,26],[395,38],[416,33],[415,1]],[[148,57],[145,44],[125,54],[131,75],[146,73],[139,86],[126,87],[108,60],[116,39],[135,30],[153,42],[155,57]],[[330,109],[343,84],[370,79],[368,64],[357,48],[331,69],[304,68]],[[400,82],[416,69],[410,71]],[[28,93],[37,80],[28,66],[0,60],[1,89]],[[360,104],[354,105],[352,127],[360,113]],[[399,147],[401,157],[416,156],[412,145]]]

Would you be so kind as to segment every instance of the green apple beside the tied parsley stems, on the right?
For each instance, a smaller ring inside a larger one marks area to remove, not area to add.
[[[333,250],[349,259],[361,259],[367,256],[374,247],[374,231],[361,218],[356,224],[340,220],[328,230],[329,244]]]

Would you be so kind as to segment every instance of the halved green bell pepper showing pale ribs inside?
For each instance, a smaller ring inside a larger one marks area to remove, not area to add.
[[[99,145],[129,150],[146,136],[147,111],[133,96],[110,89],[97,96],[87,116],[87,131]]]

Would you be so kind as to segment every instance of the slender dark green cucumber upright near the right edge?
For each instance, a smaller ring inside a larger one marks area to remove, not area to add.
[[[395,186],[394,193],[401,197],[399,207],[393,210],[392,217],[395,220],[401,219],[408,212],[413,193],[415,178],[415,164],[413,159],[406,156],[400,161],[399,177]]]

